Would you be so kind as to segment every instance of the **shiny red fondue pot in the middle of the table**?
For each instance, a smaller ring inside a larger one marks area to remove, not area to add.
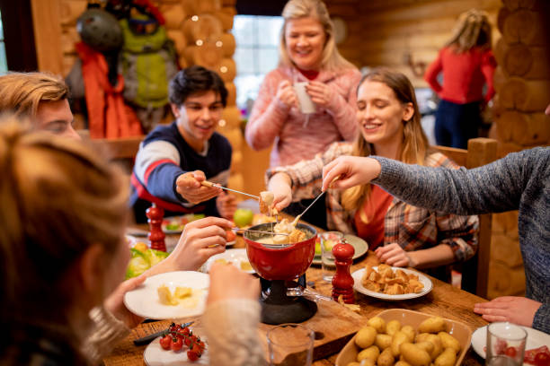
[[[251,230],[271,231],[271,223],[255,225]],[[297,229],[306,232],[307,240],[295,244],[269,247],[254,240],[266,237],[266,234],[244,231],[246,254],[254,271],[266,280],[294,280],[306,273],[315,256],[317,231],[309,225],[298,223]]]

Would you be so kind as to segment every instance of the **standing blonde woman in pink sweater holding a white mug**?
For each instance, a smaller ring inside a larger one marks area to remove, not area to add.
[[[336,49],[326,6],[320,0],[290,0],[282,16],[279,67],[265,76],[245,133],[254,150],[273,145],[271,168],[312,159],[333,142],[352,141],[357,135],[353,118],[360,74]],[[293,89],[304,82],[315,103],[315,113],[307,115]],[[312,216],[306,220],[324,226]]]

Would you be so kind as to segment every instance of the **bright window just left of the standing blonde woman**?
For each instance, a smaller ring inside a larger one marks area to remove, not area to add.
[[[280,16],[235,15],[237,106],[250,111],[265,74],[279,64]]]

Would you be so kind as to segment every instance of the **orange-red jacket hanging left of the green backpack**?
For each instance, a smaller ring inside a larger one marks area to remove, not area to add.
[[[119,75],[117,85],[112,86],[107,78],[109,67],[102,53],[83,42],[76,44],[76,51],[82,60],[90,137],[143,135],[136,113],[124,103],[122,76]]]

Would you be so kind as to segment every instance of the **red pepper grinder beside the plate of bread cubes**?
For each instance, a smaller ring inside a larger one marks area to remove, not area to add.
[[[350,274],[350,266],[353,263],[355,249],[345,239],[333,248],[336,274],[333,276],[333,300],[338,301],[340,295],[346,304],[355,302],[353,295],[353,277]]]

